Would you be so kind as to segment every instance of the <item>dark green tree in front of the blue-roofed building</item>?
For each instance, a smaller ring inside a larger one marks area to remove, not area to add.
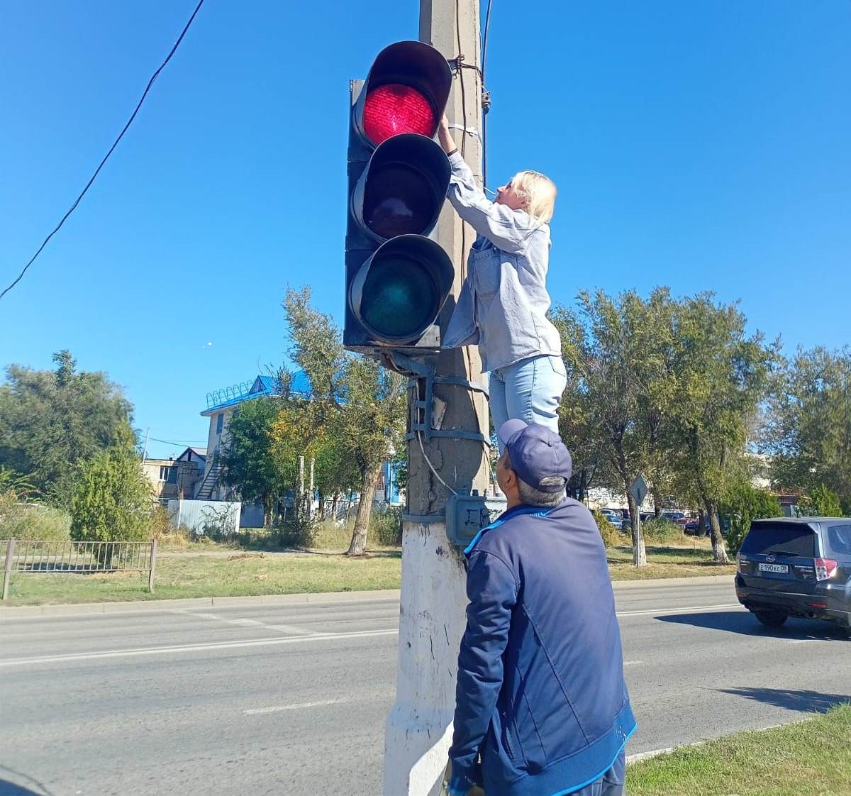
[[[266,526],[271,525],[277,496],[295,483],[283,465],[286,460],[272,445],[280,410],[280,399],[269,396],[241,404],[228,423],[220,452],[222,483],[238,490],[243,501],[262,504]]]

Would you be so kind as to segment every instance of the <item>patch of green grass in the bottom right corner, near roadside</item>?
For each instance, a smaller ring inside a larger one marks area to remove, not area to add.
[[[851,703],[814,719],[740,732],[641,760],[630,796],[848,796]]]

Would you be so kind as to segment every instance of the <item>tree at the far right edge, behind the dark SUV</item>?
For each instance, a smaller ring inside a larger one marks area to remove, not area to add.
[[[807,493],[824,484],[851,511],[851,349],[799,349],[785,362],[762,450],[776,487]]]

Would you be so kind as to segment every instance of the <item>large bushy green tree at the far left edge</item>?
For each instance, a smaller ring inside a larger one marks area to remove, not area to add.
[[[0,385],[0,466],[38,490],[67,493],[77,463],[118,446],[132,449],[133,407],[103,373],[77,372],[67,350],[56,369],[9,365]]]

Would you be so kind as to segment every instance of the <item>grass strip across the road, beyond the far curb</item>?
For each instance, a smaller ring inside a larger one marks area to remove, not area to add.
[[[711,563],[705,544],[693,547],[648,547],[648,566],[636,570],[629,547],[608,551],[612,580],[698,575],[732,575],[734,566]],[[313,552],[274,555],[238,548],[197,544],[182,553],[157,559],[155,593],[146,577],[113,575],[31,575],[14,573],[9,605],[96,603],[181,597],[240,597],[260,594],[369,591],[398,588],[401,552],[375,550],[364,558]]]

